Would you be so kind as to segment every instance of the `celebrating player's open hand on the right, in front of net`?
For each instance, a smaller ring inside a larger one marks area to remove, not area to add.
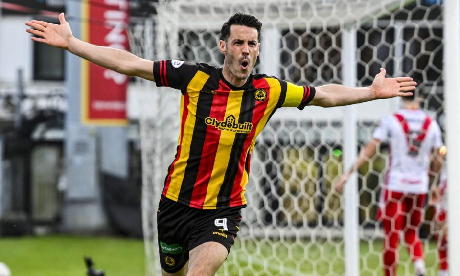
[[[385,69],[380,68],[380,73],[375,76],[372,82],[376,99],[412,96],[412,93],[407,91],[415,90],[417,83],[411,77],[386,78],[386,73]]]

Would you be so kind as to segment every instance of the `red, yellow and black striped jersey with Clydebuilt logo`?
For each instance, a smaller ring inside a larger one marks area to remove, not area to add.
[[[283,106],[303,109],[315,88],[251,74],[242,87],[222,68],[177,60],[155,61],[157,86],[179,89],[181,130],[163,195],[199,209],[246,204],[244,196],[255,138]]]

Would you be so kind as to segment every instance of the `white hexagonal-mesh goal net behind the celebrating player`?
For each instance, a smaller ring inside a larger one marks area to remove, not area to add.
[[[220,67],[222,23],[234,12],[251,13],[263,23],[255,73],[298,85],[368,86],[383,67],[387,76],[413,77],[423,109],[444,128],[440,0],[160,0],[155,10],[132,19],[130,44],[137,55]],[[159,275],[156,205],[175,155],[180,92],[152,82],[136,86],[146,263],[149,275]],[[356,192],[343,197],[333,183],[378,120],[399,107],[399,99],[390,99],[278,110],[258,137],[248,206],[218,275],[381,275],[383,231],[376,212],[388,147],[348,183]],[[427,206],[420,236],[428,275],[438,270],[432,218]],[[413,275],[403,247],[401,241],[398,275]]]

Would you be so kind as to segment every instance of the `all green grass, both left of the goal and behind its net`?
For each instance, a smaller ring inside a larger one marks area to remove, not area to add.
[[[425,243],[424,247],[427,276],[435,276],[436,245]],[[361,276],[382,275],[381,251],[381,240],[374,241],[372,247],[367,242],[360,243]],[[236,239],[228,260],[217,275],[344,275],[343,252],[343,244],[324,240],[302,240],[297,244]],[[248,258],[253,253],[258,257]],[[12,276],[84,276],[85,255],[91,256],[96,268],[103,269],[106,276],[145,275],[142,240],[69,235],[0,238],[0,262],[10,267]],[[397,275],[413,275],[409,254],[402,246],[399,259]],[[269,272],[263,273],[264,268]]]

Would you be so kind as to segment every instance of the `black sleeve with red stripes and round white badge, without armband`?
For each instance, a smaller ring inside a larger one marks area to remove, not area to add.
[[[157,60],[153,62],[153,77],[157,87],[168,86],[184,90],[198,71],[199,65],[180,60]]]

